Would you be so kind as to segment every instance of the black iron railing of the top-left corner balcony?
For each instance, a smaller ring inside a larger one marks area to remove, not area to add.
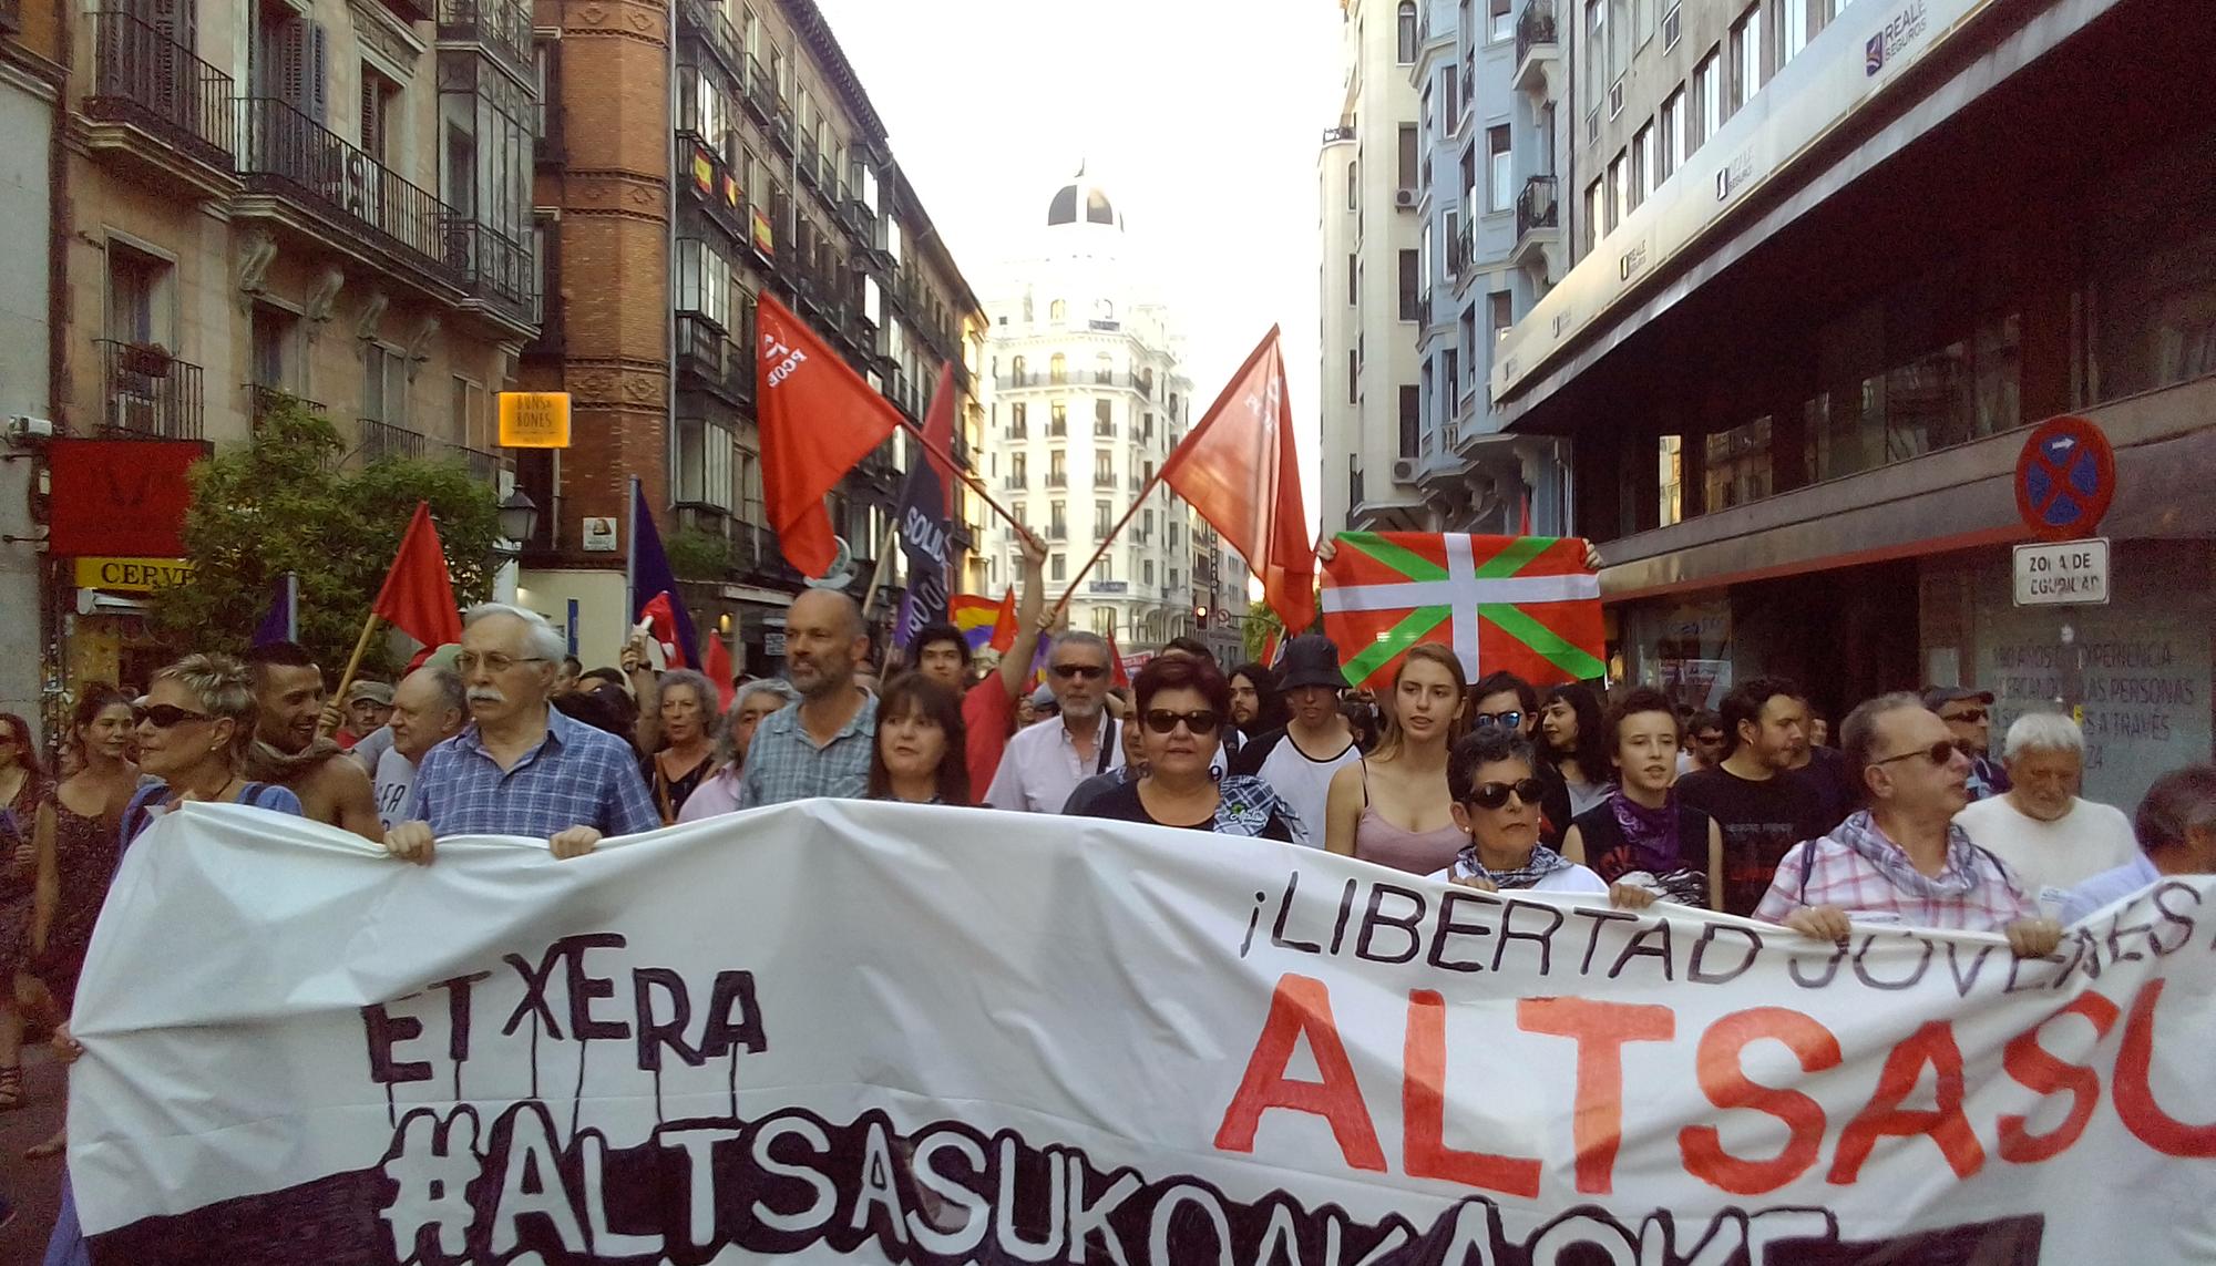
[[[235,86],[160,27],[135,13],[93,13],[93,120],[144,126],[224,170],[237,153]]]

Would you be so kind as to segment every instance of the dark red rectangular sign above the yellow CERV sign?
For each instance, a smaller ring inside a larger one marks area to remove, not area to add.
[[[204,456],[197,440],[49,443],[47,553],[182,558],[184,471]]]

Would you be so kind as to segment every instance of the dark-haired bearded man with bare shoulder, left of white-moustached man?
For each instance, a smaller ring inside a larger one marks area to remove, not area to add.
[[[361,766],[343,757],[332,739],[317,733],[324,715],[324,671],[297,642],[270,642],[246,653],[255,684],[255,746],[246,777],[277,784],[299,797],[315,821],[383,843],[377,795]]]

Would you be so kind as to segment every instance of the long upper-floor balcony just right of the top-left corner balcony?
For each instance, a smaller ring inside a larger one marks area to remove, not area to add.
[[[461,292],[516,330],[530,328],[532,257],[277,97],[239,102],[239,170],[266,204],[237,215],[279,219],[332,250],[412,272],[441,299]]]

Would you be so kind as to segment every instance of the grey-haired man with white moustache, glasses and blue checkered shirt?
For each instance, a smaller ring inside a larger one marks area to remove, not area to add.
[[[570,859],[603,837],[663,826],[632,746],[547,706],[563,648],[536,611],[470,609],[454,660],[470,726],[423,753],[388,852],[430,861],[439,837],[527,834]]]

